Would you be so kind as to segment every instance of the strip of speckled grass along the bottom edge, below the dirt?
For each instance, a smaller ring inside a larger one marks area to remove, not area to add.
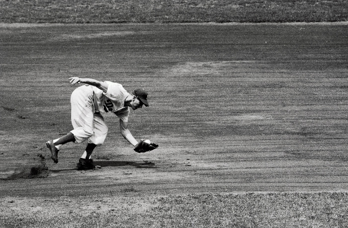
[[[0,199],[0,227],[348,227],[348,193]]]

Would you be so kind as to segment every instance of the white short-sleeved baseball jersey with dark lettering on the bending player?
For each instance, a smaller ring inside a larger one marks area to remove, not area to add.
[[[119,83],[111,81],[104,82],[109,85],[106,93],[92,86],[95,112],[112,112],[123,122],[128,122],[129,107],[124,107],[124,101],[129,93]]]

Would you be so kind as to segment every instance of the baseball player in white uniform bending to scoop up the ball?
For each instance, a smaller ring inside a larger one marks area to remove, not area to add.
[[[90,158],[96,146],[102,145],[107,135],[108,128],[104,123],[102,113],[113,113],[120,119],[122,136],[134,147],[146,145],[143,140],[139,143],[128,130],[129,107],[133,110],[149,106],[148,93],[144,89],[135,89],[128,93],[121,84],[111,81],[98,81],[91,78],[70,77],[70,82],[85,83],[76,88],[71,94],[71,122],[74,127],[67,135],[46,142],[51,152],[51,157],[58,163],[58,152],[61,145],[68,142],[82,143],[88,141],[85,152],[79,159],[79,164],[87,169],[99,169]],[[158,146],[153,144],[153,146]],[[135,149],[136,150],[136,149]],[[147,148],[146,152],[153,149]]]

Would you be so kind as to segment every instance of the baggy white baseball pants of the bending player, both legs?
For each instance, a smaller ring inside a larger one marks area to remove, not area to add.
[[[71,94],[71,123],[76,143],[102,145],[107,135],[107,126],[100,113],[95,113],[92,86],[83,85]]]

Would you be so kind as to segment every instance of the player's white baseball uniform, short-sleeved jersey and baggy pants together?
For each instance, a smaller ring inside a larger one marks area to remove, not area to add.
[[[71,122],[76,143],[88,139],[88,143],[102,145],[107,135],[107,125],[101,113],[116,114],[123,122],[128,122],[129,108],[124,101],[129,93],[119,83],[105,81],[106,93],[95,86],[83,85],[71,94]]]

